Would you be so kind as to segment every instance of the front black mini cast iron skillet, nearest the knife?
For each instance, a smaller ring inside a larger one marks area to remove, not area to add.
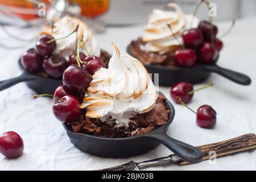
[[[105,158],[124,158],[150,151],[160,143],[163,143],[176,155],[180,156],[180,158],[191,163],[200,162],[203,158],[203,154],[200,150],[189,144],[173,139],[166,134],[168,127],[174,119],[175,110],[170,101],[166,100],[164,104],[170,109],[167,123],[150,133],[137,137],[94,137],[92,135],[74,133],[71,126],[68,124],[63,124],[63,126],[75,147],[82,152],[92,155]]]

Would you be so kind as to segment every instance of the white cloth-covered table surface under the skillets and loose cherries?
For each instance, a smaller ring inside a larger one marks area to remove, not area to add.
[[[228,29],[230,22],[218,23],[220,32]],[[115,42],[125,50],[130,40],[143,34],[143,26],[109,28],[105,34],[97,35],[101,47],[112,51]],[[1,32],[1,42],[7,39]],[[216,74],[208,81],[214,86],[196,93],[189,106],[197,109],[200,105],[211,105],[217,111],[217,125],[214,129],[201,129],[196,125],[195,114],[181,105],[176,105],[176,115],[168,134],[194,146],[218,142],[247,133],[256,133],[256,18],[238,20],[233,31],[224,40],[218,64],[222,67],[246,73],[253,80],[250,86],[241,86]],[[27,36],[30,32],[13,31],[15,35]],[[34,44],[34,42],[33,42]],[[32,44],[31,44],[32,45]],[[0,80],[20,75],[17,65],[19,56],[30,46],[20,49],[0,49]],[[171,79],[171,78],[170,78]],[[202,84],[195,85],[199,87]],[[170,88],[160,87],[168,99]],[[0,92],[0,133],[13,130],[19,133],[25,144],[24,154],[18,159],[6,159],[0,155],[0,170],[92,170],[112,167],[134,160],[159,158],[172,154],[162,144],[154,150],[126,159],[99,158],[84,154],[70,142],[63,126],[52,114],[52,100],[32,100],[34,91],[20,83]],[[189,166],[173,164],[146,168],[149,170],[235,170],[256,169],[256,151],[243,152],[217,159],[216,164],[208,161]]]

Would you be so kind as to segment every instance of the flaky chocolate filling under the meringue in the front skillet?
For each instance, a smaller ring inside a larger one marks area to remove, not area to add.
[[[130,119],[127,127],[115,127],[112,124],[101,122],[100,119],[84,117],[81,113],[79,121],[71,124],[75,133],[85,133],[96,137],[106,138],[123,138],[146,134],[158,127],[164,125],[168,121],[170,110],[164,105],[166,97],[159,94],[156,104],[148,113],[137,114]]]

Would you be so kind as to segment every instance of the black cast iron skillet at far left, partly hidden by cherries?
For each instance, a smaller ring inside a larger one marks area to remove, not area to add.
[[[55,92],[55,89],[63,84],[62,79],[45,78],[32,73],[28,73],[23,69],[22,65],[20,64],[20,59],[19,67],[20,69],[22,69],[22,75],[8,80],[0,81],[0,91],[5,90],[15,84],[18,84],[19,82],[26,81],[28,87],[34,90],[36,93],[53,94]]]

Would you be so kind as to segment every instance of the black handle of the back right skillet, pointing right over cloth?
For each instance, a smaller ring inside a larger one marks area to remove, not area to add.
[[[243,75],[242,73],[234,72],[229,69],[221,68],[216,64],[213,65],[204,65],[205,70],[209,72],[218,73],[229,80],[232,80],[238,84],[241,85],[250,85],[251,84],[251,78]]]

